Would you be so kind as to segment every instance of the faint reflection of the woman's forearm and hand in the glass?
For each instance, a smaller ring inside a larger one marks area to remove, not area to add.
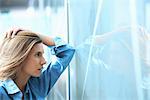
[[[144,36],[144,38],[149,38],[150,39],[150,35],[147,34],[148,32],[141,26],[135,26],[136,27],[136,32],[140,33],[140,35],[142,35],[142,37]],[[111,32],[106,32],[100,35],[95,35],[95,36],[90,36],[88,39],[86,39],[85,43],[86,44],[96,44],[96,45],[101,45],[106,43],[107,41],[111,40],[111,38],[113,37],[117,37],[120,36],[119,34],[126,34],[126,33],[131,33],[132,30],[132,26],[123,26],[123,27],[119,27]]]

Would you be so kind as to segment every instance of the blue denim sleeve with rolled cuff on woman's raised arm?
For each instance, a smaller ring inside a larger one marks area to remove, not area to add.
[[[33,90],[35,90],[36,94],[38,93],[42,96],[48,95],[60,75],[69,65],[75,52],[75,49],[69,44],[64,43],[61,38],[56,37],[54,41],[55,46],[49,48],[51,48],[51,53],[55,55],[55,58],[40,77],[30,80]]]

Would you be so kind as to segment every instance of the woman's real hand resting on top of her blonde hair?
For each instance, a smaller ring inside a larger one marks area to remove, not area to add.
[[[19,31],[23,31],[23,29],[21,28],[14,28],[8,32],[5,33],[5,38],[14,38],[15,35],[17,35],[17,33]]]

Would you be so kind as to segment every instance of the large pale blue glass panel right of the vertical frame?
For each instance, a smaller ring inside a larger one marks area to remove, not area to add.
[[[70,0],[71,100],[150,99],[146,3]]]

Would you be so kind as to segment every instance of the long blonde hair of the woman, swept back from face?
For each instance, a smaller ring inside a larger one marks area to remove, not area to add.
[[[32,47],[41,42],[41,39],[30,31],[20,31],[14,38],[4,38],[0,46],[0,80],[15,79],[19,66]]]

